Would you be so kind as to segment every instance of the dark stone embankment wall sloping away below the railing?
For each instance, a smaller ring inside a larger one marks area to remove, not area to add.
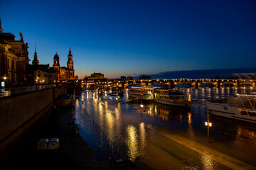
[[[15,136],[21,135],[23,128],[28,128],[31,123],[48,113],[55,99],[64,92],[65,86],[58,86],[0,98],[0,151],[6,141],[15,140]]]

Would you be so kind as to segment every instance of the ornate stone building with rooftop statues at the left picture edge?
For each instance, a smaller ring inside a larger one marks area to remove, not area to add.
[[[28,43],[15,40],[11,33],[4,33],[0,21],[0,79],[6,86],[29,84]]]

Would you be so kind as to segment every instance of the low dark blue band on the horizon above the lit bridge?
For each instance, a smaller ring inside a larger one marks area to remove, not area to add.
[[[250,69],[203,69],[203,70],[186,70],[160,72],[159,74],[149,75],[152,79],[215,79],[234,78],[234,77],[256,77],[256,68]],[[138,77],[134,77],[137,79]]]

